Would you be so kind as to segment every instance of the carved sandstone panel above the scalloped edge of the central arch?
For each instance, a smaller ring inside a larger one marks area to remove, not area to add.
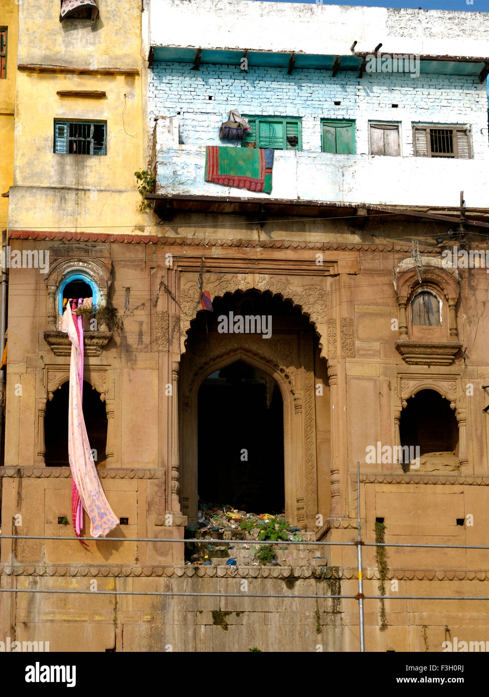
[[[180,335],[181,353],[186,352],[187,332],[197,312],[203,312],[200,304],[201,289],[195,275],[181,279],[180,289]],[[319,348],[326,358],[326,335],[328,316],[328,292],[326,275],[303,277],[299,275],[253,274],[253,273],[206,273],[204,289],[211,299],[222,298],[226,293],[255,290],[280,296],[292,306],[299,308],[313,324],[319,337]]]

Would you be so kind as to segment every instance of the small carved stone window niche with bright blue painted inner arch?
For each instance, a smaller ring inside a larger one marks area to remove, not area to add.
[[[71,344],[61,332],[63,300],[91,298],[93,314],[83,315],[85,355],[100,355],[112,338],[105,315],[110,272],[100,261],[58,261],[52,265],[47,284],[47,330],[44,338],[55,355],[70,355]],[[96,314],[98,310],[99,314]],[[93,321],[95,320],[95,321]]]

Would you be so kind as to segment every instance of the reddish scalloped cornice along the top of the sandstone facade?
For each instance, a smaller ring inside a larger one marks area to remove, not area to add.
[[[163,226],[162,226],[163,227]],[[205,245],[206,247],[258,247],[259,249],[292,250],[345,250],[365,252],[411,252],[409,245],[381,243],[339,243],[339,242],[303,242],[300,240],[257,240],[253,239],[204,239],[200,237],[165,237],[159,235],[110,235],[106,233],[81,233],[38,230],[9,230],[10,240],[75,240],[82,242],[123,242],[142,244],[183,245],[186,247]],[[420,252],[428,254],[433,247],[420,247]]]

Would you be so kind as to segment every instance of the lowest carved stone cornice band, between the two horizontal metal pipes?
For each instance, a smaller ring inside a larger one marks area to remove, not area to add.
[[[33,565],[0,564],[0,576],[94,576],[102,577],[155,577],[181,578],[182,576],[202,578],[240,578],[240,579],[356,579],[358,570],[354,567],[269,567],[269,566],[204,566],[185,565],[165,566],[90,566],[90,565]],[[363,569],[363,578],[377,581],[380,575],[377,569]],[[489,570],[486,569],[389,569],[387,579],[399,581],[487,581]]]

